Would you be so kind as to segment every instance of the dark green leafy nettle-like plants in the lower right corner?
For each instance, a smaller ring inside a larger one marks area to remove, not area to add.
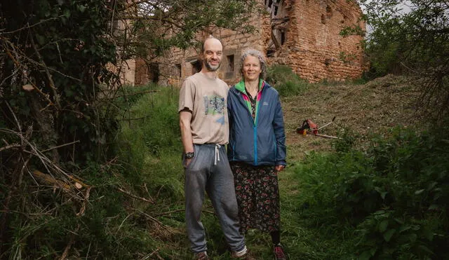
[[[396,128],[390,139],[374,137],[363,166],[340,182],[337,205],[359,232],[361,259],[447,256],[446,139]]]

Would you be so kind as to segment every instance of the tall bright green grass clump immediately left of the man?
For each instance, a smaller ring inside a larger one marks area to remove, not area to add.
[[[130,107],[129,118],[121,123],[116,149],[127,165],[123,174],[130,181],[147,182],[166,198],[176,200],[182,196],[179,90],[153,90],[156,92],[143,95]]]

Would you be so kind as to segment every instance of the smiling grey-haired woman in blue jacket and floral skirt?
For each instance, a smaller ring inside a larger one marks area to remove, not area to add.
[[[229,90],[227,150],[241,231],[257,228],[272,236],[276,259],[281,247],[278,172],[286,166],[286,135],[278,92],[262,78],[265,61],[258,50],[241,57],[243,79]]]

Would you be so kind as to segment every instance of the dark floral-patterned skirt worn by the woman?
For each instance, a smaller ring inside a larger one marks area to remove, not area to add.
[[[279,231],[279,186],[274,166],[253,166],[231,162],[234,173],[240,229]]]

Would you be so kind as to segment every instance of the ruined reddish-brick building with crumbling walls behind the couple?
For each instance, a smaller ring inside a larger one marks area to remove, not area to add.
[[[246,48],[261,50],[268,64],[288,65],[310,82],[359,78],[363,62],[361,36],[340,36],[347,26],[365,29],[361,8],[347,0],[260,0],[266,15],[254,14],[253,34],[219,29],[213,36],[225,46],[218,76],[227,83],[239,81],[240,56]],[[204,34],[201,37],[206,37]],[[194,48],[173,48],[151,66],[135,62],[135,84],[150,81],[180,85],[201,68]]]

